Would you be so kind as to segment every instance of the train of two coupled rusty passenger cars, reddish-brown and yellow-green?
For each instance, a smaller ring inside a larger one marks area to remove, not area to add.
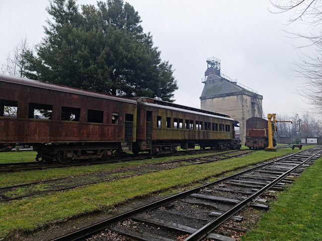
[[[195,144],[238,149],[234,122],[227,115],[160,100],[0,74],[0,148],[8,143],[32,145],[37,161],[68,163],[126,151],[173,153],[177,146],[188,149]]]

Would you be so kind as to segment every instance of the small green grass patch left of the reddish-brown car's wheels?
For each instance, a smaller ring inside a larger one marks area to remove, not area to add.
[[[35,162],[36,155],[35,151],[0,152],[0,163]]]

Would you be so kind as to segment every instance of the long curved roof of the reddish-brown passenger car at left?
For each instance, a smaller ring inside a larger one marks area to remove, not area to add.
[[[109,95],[109,94],[103,94],[103,93],[93,92],[93,91],[89,91],[89,90],[81,90],[78,88],[67,87],[67,86],[63,86],[63,85],[56,85],[56,84],[52,84],[52,83],[41,82],[41,81],[34,80],[34,79],[20,78],[20,77],[5,75],[5,74],[0,74],[0,81],[10,82],[10,83],[14,83],[14,84],[27,85],[27,86],[33,86],[33,87],[49,89],[49,90],[56,90],[56,91],[61,91],[61,92],[66,92],[66,93],[71,93],[71,94],[91,96],[91,97],[96,97],[96,98],[101,98],[101,99],[137,104],[137,102],[135,100],[124,98],[124,97],[117,97],[117,96],[113,96],[113,95]]]

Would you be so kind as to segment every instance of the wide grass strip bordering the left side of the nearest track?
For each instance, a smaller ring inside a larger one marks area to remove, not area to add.
[[[217,163],[183,166],[128,179],[93,184],[66,192],[55,192],[31,199],[1,203],[0,237],[6,237],[13,231],[33,231],[85,213],[100,211],[104,208],[110,209],[137,197],[183,187],[298,151],[291,149],[282,149],[278,152],[257,151],[245,157]]]

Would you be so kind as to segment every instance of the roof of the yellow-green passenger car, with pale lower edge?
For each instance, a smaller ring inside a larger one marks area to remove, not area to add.
[[[230,116],[228,116],[228,115],[219,114],[219,113],[201,110],[201,109],[192,108],[192,107],[187,107],[187,106],[181,106],[181,105],[177,105],[174,103],[156,100],[156,99],[152,99],[152,98],[141,97],[138,99],[138,103],[143,104],[145,106],[163,108],[163,109],[168,109],[168,110],[172,110],[172,111],[183,111],[183,112],[191,113],[191,114],[195,114],[195,115],[215,117],[215,118],[220,118],[220,119],[225,119],[225,120],[234,120],[234,119],[230,118]]]

